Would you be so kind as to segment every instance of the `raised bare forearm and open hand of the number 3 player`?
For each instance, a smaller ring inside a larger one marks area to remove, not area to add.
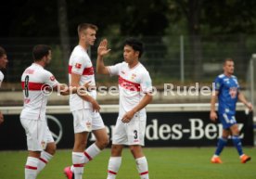
[[[108,41],[104,39],[97,47],[96,72],[99,74],[109,74],[109,69],[104,65],[103,57],[109,53]]]

